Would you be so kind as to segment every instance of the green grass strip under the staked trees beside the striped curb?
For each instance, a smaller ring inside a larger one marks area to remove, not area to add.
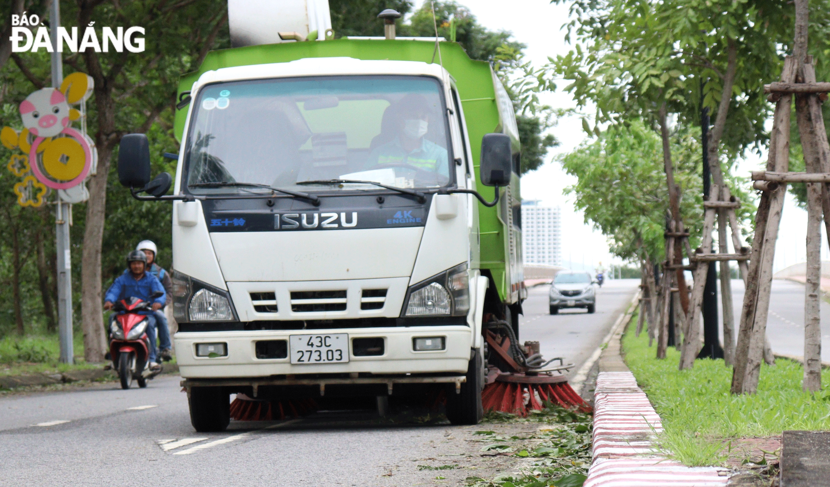
[[[722,464],[730,438],[830,429],[830,391],[804,393],[802,366],[791,360],[762,365],[758,393],[733,396],[732,369],[722,359],[696,360],[693,369],[678,370],[680,352],[670,347],[665,360],[656,359],[656,347],[648,346],[646,333],[635,337],[634,326],[623,337],[623,351],[662,418],[659,446],[686,465]],[[822,383],[830,384],[830,370],[822,372]]]

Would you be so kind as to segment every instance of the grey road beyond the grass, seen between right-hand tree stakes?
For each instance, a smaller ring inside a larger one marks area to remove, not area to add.
[[[720,282],[718,284],[718,305],[720,309]],[[744,282],[732,280],[733,314],[735,330],[740,326],[740,307],[744,302]],[[722,311],[719,311],[721,313]],[[723,324],[719,319],[720,343],[723,343]],[[822,321],[822,358],[830,361],[830,304],[821,303]],[[737,331],[735,332],[737,335]],[[772,292],[769,294],[769,316],[767,316],[767,336],[776,354],[804,354],[804,285],[784,279],[773,279]]]

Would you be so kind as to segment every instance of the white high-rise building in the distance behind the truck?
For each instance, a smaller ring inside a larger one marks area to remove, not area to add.
[[[559,206],[542,206],[539,200],[521,202],[522,252],[525,263],[562,265]]]

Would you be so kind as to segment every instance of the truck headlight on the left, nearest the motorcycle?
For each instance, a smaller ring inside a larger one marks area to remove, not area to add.
[[[227,291],[175,270],[170,277],[176,321],[238,321]]]

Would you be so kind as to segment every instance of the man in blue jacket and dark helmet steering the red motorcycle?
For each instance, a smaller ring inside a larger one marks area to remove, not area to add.
[[[110,289],[107,289],[104,298],[104,309],[111,310],[113,303],[129,297],[138,297],[142,301],[152,301],[153,311],[138,311],[139,314],[147,316],[147,336],[150,342],[149,369],[158,369],[156,362],[156,317],[154,311],[159,311],[164,306],[164,286],[153,274],[145,272],[147,267],[147,256],[140,250],[134,250],[127,255],[128,268],[119,277],[115,278]],[[161,292],[161,296],[153,299],[154,292]]]

